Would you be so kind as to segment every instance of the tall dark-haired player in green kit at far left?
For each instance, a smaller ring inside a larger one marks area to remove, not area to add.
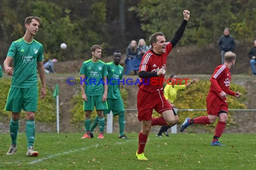
[[[26,111],[26,138],[27,156],[37,156],[39,153],[34,150],[35,140],[35,111],[38,102],[38,87],[36,66],[42,82],[40,100],[46,94],[44,74],[44,49],[43,45],[34,39],[39,29],[41,19],[39,17],[27,17],[25,19],[25,35],[14,41],[9,48],[4,60],[4,70],[7,75],[12,76],[12,83],[9,90],[5,110],[12,111],[10,121],[11,146],[7,155],[13,155],[17,150],[17,135],[21,109]],[[10,67],[13,61],[13,68]]]

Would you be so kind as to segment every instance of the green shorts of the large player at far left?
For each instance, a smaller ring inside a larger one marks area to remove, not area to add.
[[[25,111],[35,112],[37,109],[38,88],[16,88],[11,87],[8,93],[7,102],[5,105],[6,111],[20,112]]]

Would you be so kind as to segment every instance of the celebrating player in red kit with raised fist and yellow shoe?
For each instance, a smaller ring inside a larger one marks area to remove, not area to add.
[[[137,94],[138,119],[142,122],[142,130],[139,133],[139,146],[136,152],[136,157],[139,160],[148,160],[144,155],[144,148],[151,126],[171,126],[175,123],[172,106],[163,97],[163,82],[161,82],[161,79],[163,80],[164,78],[167,56],[181,39],[189,20],[190,12],[184,10],[183,15],[184,20],[172,41],[166,42],[164,34],[161,32],[150,36],[152,50],[146,52],[141,60],[139,70],[141,85],[139,85],[140,89]],[[152,77],[154,81],[152,81]],[[152,119],[153,109],[161,115],[159,118]]]

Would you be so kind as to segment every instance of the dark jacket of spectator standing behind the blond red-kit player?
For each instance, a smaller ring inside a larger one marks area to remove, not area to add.
[[[231,35],[225,36],[222,35],[218,41],[219,49],[221,51],[234,51],[235,48],[235,41]]]

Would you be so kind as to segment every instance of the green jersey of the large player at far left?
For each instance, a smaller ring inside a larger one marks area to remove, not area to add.
[[[23,38],[14,41],[7,53],[13,58],[13,76],[11,87],[37,87],[37,61],[44,59],[43,45],[35,39],[26,43]]]

